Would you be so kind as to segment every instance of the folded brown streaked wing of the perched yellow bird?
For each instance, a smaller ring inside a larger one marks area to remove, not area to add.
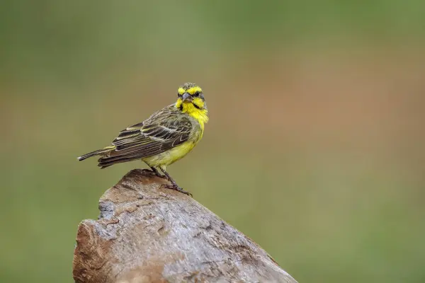
[[[154,113],[145,122],[120,132],[112,144],[115,150],[98,160],[102,168],[115,163],[154,156],[187,141],[192,122],[174,107]]]

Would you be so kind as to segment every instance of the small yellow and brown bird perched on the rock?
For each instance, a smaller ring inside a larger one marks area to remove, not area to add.
[[[192,151],[202,139],[208,120],[202,88],[196,83],[183,83],[177,90],[176,103],[154,112],[143,122],[126,127],[110,146],[79,156],[78,160],[101,156],[98,166],[102,169],[116,163],[142,160],[152,173],[169,180],[171,185],[164,187],[191,195],[177,185],[166,166]]]

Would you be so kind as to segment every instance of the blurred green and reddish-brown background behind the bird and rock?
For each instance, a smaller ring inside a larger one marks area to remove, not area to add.
[[[425,282],[424,1],[2,1],[0,282],[73,282],[132,162],[77,156],[203,87],[169,172],[299,282]]]

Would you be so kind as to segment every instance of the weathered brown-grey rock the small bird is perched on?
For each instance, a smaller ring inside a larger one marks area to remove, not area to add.
[[[256,243],[196,200],[133,170],[79,224],[76,282],[296,282]]]

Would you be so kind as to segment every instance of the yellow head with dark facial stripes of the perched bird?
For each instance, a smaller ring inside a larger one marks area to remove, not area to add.
[[[183,112],[206,111],[207,104],[203,96],[202,88],[196,83],[184,83],[177,91],[176,108]]]

